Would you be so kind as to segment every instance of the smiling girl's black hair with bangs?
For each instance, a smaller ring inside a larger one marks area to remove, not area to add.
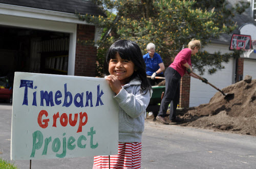
[[[136,71],[134,71],[133,75],[131,76],[131,80],[135,77],[139,78],[141,82],[140,92],[143,93],[144,90],[146,90],[146,92],[151,90],[150,82],[146,77],[146,66],[140,47],[134,41],[118,40],[110,46],[106,52],[105,72],[110,74],[109,63],[111,59],[116,58],[117,53],[122,59],[129,60],[134,63]]]

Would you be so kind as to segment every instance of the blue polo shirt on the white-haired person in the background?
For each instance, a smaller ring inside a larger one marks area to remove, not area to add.
[[[143,55],[143,59],[146,64],[146,74],[150,76],[160,68],[159,64],[163,63],[162,58],[156,52],[154,53],[154,57],[152,59],[150,58],[149,53]],[[163,72],[159,74],[163,74]]]

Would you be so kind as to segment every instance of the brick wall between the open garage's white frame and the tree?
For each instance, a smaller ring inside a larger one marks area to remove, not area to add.
[[[94,40],[95,26],[77,24],[75,75],[95,77],[97,48],[79,41]]]

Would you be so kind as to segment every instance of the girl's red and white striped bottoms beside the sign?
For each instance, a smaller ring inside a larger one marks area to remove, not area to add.
[[[95,156],[93,169],[139,169],[141,168],[141,143],[118,143],[118,155]]]

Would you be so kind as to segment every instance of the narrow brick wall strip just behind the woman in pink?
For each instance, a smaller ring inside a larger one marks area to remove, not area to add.
[[[180,108],[189,107],[190,76],[185,73],[180,80]]]

